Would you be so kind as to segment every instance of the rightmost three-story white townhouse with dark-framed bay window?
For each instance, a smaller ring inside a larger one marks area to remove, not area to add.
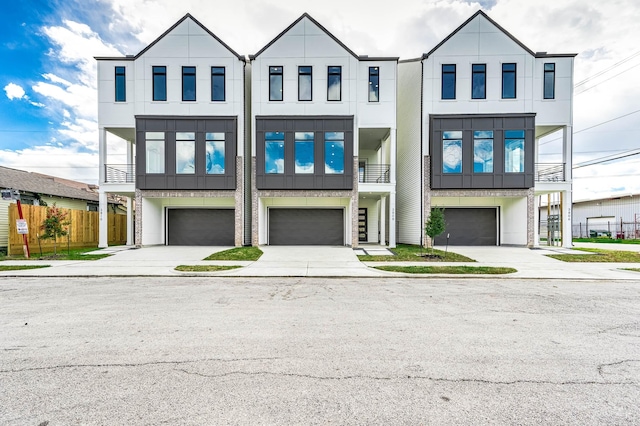
[[[571,245],[575,54],[533,52],[484,12],[398,68],[398,241],[420,244],[432,207],[436,244],[539,243],[538,197],[560,194]],[[420,88],[420,90],[416,90]],[[561,163],[538,161],[559,134]]]

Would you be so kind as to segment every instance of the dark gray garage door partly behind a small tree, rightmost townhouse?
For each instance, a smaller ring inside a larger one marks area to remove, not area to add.
[[[448,209],[444,210],[447,224],[442,235],[436,237],[437,245],[495,246],[497,245],[497,209]]]

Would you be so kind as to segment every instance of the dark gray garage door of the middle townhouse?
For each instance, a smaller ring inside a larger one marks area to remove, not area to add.
[[[343,209],[269,209],[271,245],[343,245]]]

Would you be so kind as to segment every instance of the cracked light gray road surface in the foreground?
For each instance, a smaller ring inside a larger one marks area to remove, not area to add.
[[[0,327],[3,425],[640,424],[640,282],[13,278]]]

